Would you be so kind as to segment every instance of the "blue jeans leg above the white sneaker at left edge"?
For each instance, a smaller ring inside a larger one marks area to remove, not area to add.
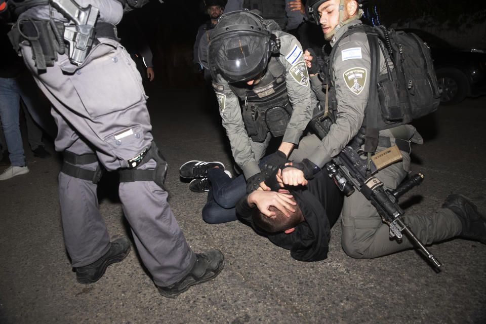
[[[16,78],[0,77],[0,118],[13,167],[25,166],[19,126],[20,89]]]

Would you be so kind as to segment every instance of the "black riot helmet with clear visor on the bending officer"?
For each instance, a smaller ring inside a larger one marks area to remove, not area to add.
[[[247,9],[222,15],[209,35],[211,74],[228,82],[250,80],[263,71],[278,45],[259,15]]]

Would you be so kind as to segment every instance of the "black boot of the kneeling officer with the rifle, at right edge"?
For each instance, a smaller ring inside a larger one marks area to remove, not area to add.
[[[454,212],[461,221],[461,237],[480,241],[486,244],[486,217],[479,214],[476,205],[467,197],[453,193],[442,204],[442,208],[448,208]]]

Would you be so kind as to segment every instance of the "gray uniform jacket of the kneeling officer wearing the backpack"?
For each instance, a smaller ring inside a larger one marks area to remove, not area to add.
[[[339,29],[331,40],[331,46],[337,43],[349,26],[356,24],[361,24],[361,21],[354,20]],[[334,86],[338,104],[337,118],[328,135],[322,139],[320,145],[309,157],[320,168],[344,148],[363,124],[371,75],[370,47],[366,34],[355,32],[340,39],[334,61],[330,64],[333,64],[334,69]],[[379,74],[383,73],[386,73],[386,64],[383,54],[380,53]],[[321,82],[316,75],[311,77],[311,83],[317,98],[322,100]],[[413,141],[419,143],[422,141],[412,126],[407,125],[400,128],[407,133],[403,137],[407,139],[414,137]],[[379,135],[393,137],[390,130],[380,131]]]

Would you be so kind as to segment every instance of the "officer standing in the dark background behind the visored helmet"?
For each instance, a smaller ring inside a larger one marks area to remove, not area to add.
[[[204,64],[201,64],[199,59],[199,46],[201,46],[204,51],[208,48],[208,38],[209,31],[216,26],[219,17],[223,14],[224,6],[226,4],[225,0],[203,0],[206,12],[209,15],[210,20],[199,26],[196,35],[196,41],[193,47],[193,59],[194,71],[203,72],[204,78],[208,81],[211,80],[211,73],[204,68]]]

